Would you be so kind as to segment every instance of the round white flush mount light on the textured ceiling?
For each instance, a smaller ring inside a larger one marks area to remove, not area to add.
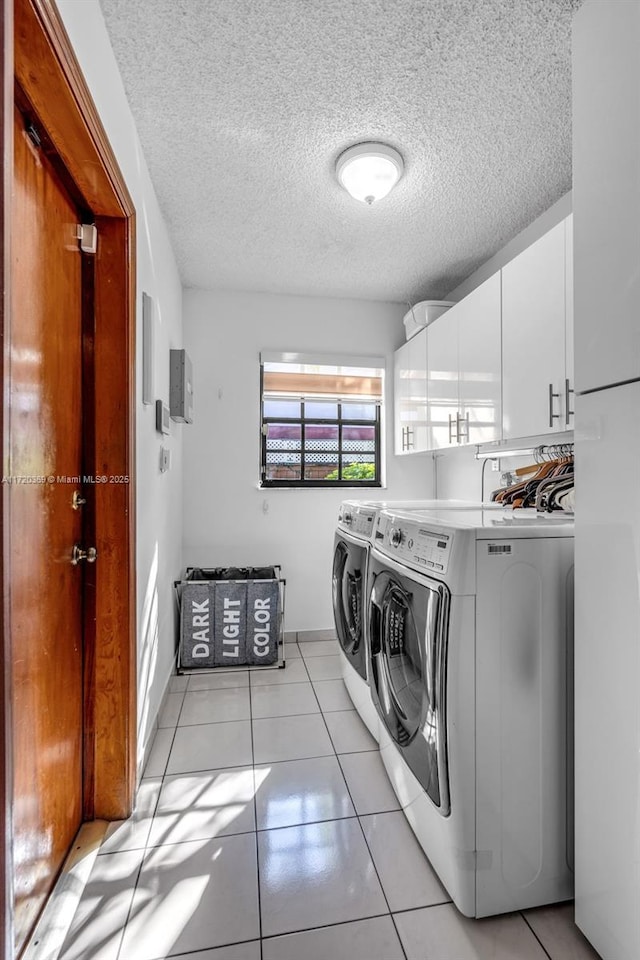
[[[386,143],[357,143],[336,161],[338,180],[347,193],[369,204],[386,197],[403,170],[402,157]]]

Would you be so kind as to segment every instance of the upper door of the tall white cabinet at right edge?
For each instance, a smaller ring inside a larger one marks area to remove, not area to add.
[[[591,3],[573,31],[576,389],[640,378],[640,6]]]

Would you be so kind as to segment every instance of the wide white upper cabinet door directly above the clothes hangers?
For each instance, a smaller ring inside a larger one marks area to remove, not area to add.
[[[565,225],[502,269],[504,437],[564,430]]]

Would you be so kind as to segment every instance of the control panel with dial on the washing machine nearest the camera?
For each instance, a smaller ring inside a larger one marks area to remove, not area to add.
[[[411,522],[382,513],[376,521],[375,546],[387,556],[443,576],[449,568],[453,533],[429,522]]]

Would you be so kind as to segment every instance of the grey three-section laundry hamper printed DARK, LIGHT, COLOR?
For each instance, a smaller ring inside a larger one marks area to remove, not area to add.
[[[279,566],[188,567],[175,588],[180,672],[285,666]]]

